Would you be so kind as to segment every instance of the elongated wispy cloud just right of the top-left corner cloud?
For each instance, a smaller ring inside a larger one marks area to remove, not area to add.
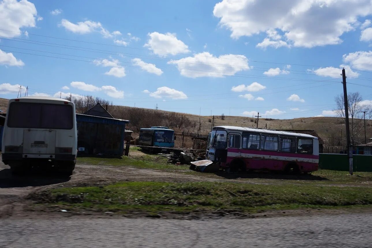
[[[77,22],[72,23],[69,20],[62,19],[61,24],[62,27],[77,34],[89,34],[92,32],[100,32],[103,38],[112,38],[117,34],[119,31],[114,31],[110,33],[107,29],[103,28],[100,22],[93,22],[91,20],[86,20],[85,22]],[[120,33],[120,32],[119,32]]]

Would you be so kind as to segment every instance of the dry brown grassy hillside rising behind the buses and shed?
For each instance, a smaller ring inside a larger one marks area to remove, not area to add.
[[[8,99],[0,98],[0,109],[6,112],[8,105]],[[183,130],[192,133],[199,133],[199,115],[177,113],[163,110],[154,109],[143,109],[134,108],[128,106],[109,106],[108,111],[115,117],[131,121],[128,128],[132,128],[135,133],[138,132],[139,128],[147,127],[148,125],[167,125],[171,121],[182,121],[183,125],[181,128],[178,127],[177,122],[172,123],[177,128],[174,128],[177,132]],[[158,117],[158,118],[154,118]],[[167,118],[167,121],[164,121]],[[149,120],[151,119],[151,120]],[[147,120],[141,121],[141,120]],[[158,121],[157,121],[158,120]],[[208,134],[211,131],[212,120],[211,116],[200,117],[200,133]],[[156,122],[156,123],[155,123]],[[225,120],[221,119],[221,116],[215,116],[215,126],[217,125],[235,125],[240,127],[256,127],[256,118],[242,117],[242,116],[225,116]],[[291,129],[291,130],[315,130],[317,134],[324,140],[328,145],[338,145],[341,140],[344,142],[345,138],[345,124],[340,118],[337,117],[307,117],[307,118],[295,118],[288,120],[280,119],[259,119],[259,128],[269,129]],[[367,139],[372,137],[372,123],[367,123]],[[169,124],[171,125],[171,124]],[[364,143],[364,131],[361,132],[360,141]],[[367,141],[368,142],[368,141]]]

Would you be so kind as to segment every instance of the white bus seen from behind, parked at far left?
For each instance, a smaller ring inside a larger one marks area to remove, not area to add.
[[[9,100],[1,148],[13,173],[50,165],[72,174],[77,154],[73,102],[36,96]]]

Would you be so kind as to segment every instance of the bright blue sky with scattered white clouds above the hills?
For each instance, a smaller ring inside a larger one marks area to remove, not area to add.
[[[0,97],[335,116],[342,68],[372,104],[371,20],[371,0],[0,0]]]

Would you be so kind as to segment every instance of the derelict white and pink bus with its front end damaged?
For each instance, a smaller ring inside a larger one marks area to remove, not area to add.
[[[307,173],[318,170],[318,138],[250,127],[212,128],[207,158],[227,171],[272,170]]]

